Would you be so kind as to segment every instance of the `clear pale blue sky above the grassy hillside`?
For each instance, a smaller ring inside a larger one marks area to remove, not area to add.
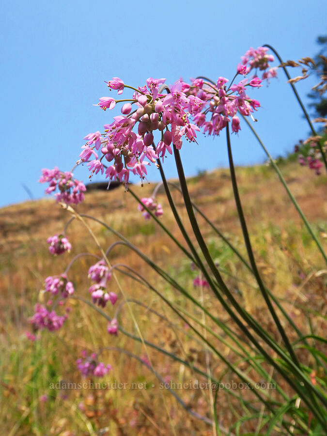
[[[118,76],[138,86],[151,76],[168,83],[181,76],[232,78],[251,46],[270,44],[283,59],[298,59],[314,55],[316,37],[327,32],[326,2],[320,0],[12,0],[2,1],[1,10],[0,206],[27,200],[22,184],[34,198],[42,197],[41,169],[70,170],[83,137],[111,122],[118,111],[93,106],[108,95],[104,80]],[[280,72],[268,88],[251,94],[262,104],[255,128],[274,156],[292,150],[308,132],[285,81]],[[298,84],[304,101],[313,84]],[[224,135],[215,140],[200,135],[198,142],[182,148],[188,175],[227,165]],[[239,165],[265,159],[246,125],[232,145]],[[175,176],[172,158],[165,170]],[[87,182],[85,167],[74,173]],[[158,179],[153,166],[149,180]]]

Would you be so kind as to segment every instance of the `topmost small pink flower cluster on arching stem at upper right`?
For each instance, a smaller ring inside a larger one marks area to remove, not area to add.
[[[241,57],[241,63],[237,65],[237,72],[246,75],[251,70],[264,71],[262,79],[273,78],[277,76],[277,68],[271,68],[269,62],[274,61],[274,56],[267,54],[268,47],[249,48],[244,56]]]

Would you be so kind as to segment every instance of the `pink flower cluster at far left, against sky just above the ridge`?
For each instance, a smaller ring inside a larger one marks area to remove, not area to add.
[[[78,204],[84,200],[85,185],[73,178],[73,173],[69,171],[60,171],[57,167],[53,170],[43,169],[40,183],[48,183],[45,190],[46,194],[51,194],[57,188],[55,198],[57,202],[66,204]]]

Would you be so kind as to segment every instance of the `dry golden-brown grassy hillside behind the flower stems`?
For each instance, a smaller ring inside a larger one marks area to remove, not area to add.
[[[327,178],[317,177],[296,163],[285,164],[281,171],[314,231],[320,234],[322,244],[327,248]],[[237,168],[237,177],[251,241],[265,283],[280,298],[298,327],[304,332],[322,332],[326,328],[327,301],[324,291],[327,270],[320,253],[271,168]],[[201,174],[190,178],[188,183],[193,201],[246,256],[229,171],[223,169]],[[154,186],[147,184],[133,189],[140,197],[148,197]],[[180,193],[173,191],[173,197],[190,231]],[[164,209],[161,219],[174,236],[182,241],[162,188],[158,200]],[[124,234],[156,263],[168,269],[193,296],[203,301],[204,306],[210,307],[221,321],[230,323],[228,315],[210,290],[201,291],[193,287],[192,282],[197,272],[193,271],[187,258],[153,220],[144,220],[137,211],[137,203],[128,192],[124,192],[123,187],[112,191],[90,192],[86,195],[85,202],[76,209],[79,213],[99,218]],[[118,302],[115,307],[107,306],[105,311],[112,317],[117,306],[124,300],[123,294],[137,300],[141,304],[131,301],[129,308],[133,311],[144,339],[173,352],[190,363],[190,367],[172,361],[155,349],[145,349],[142,343],[133,341],[122,333],[118,337],[110,336],[107,333],[107,321],[78,299],[72,299],[69,303],[72,311],[61,330],[52,334],[43,331],[38,334],[36,342],[30,342],[24,332],[30,328],[28,318],[33,313],[34,304],[45,298],[40,293],[44,279],[49,275],[61,274],[69,261],[80,252],[100,254],[90,234],[77,220],[67,230],[72,243],[71,253],[55,258],[49,254],[47,237],[62,233],[70,216],[67,210],[49,199],[0,209],[2,434],[212,435],[210,425],[189,414],[167,389],[160,389],[159,380],[146,365],[119,349],[105,350],[101,354],[101,359],[113,367],[105,381],[126,383],[129,389],[50,388],[51,383],[80,382],[76,359],[81,350],[93,352],[102,347],[119,347],[143,360],[148,359],[148,353],[154,369],[167,382],[202,381],[192,370],[192,365],[204,372],[210,366],[213,375],[222,381],[236,380],[224,365],[213,360],[210,353],[203,353],[202,346],[191,337],[189,327],[176,319],[174,313],[155,294],[119,273],[119,285],[111,280],[112,290],[118,294]],[[199,222],[211,254],[235,297],[278,338],[255,282],[247,274],[246,268],[200,216]],[[109,230],[97,223],[88,223],[103,249],[107,249],[116,240]],[[112,264],[125,263],[138,270],[167,298],[183,310],[191,312],[197,319],[203,319],[201,311],[195,311],[134,252],[124,246],[117,246],[110,253],[109,259]],[[92,258],[82,257],[69,272],[76,295],[89,300],[88,288],[91,281],[87,271],[93,263]],[[138,335],[126,304],[119,313],[118,321],[125,331]],[[204,319],[204,322],[209,325],[208,320]],[[236,362],[228,343],[217,341],[217,346],[226,358]],[[303,358],[306,358],[305,350]],[[247,370],[246,362],[238,364],[244,371]],[[141,388],[131,389],[133,383],[141,383]],[[196,389],[193,386],[189,389],[176,389],[176,393],[187,407],[203,416],[210,416],[212,398],[208,389]],[[242,395],[250,397],[251,393],[242,392]],[[219,392],[218,404],[221,425],[229,425],[233,416],[242,414],[238,402],[234,402],[233,397],[225,392]],[[243,434],[255,431],[255,424],[251,420],[247,421],[242,431]]]

